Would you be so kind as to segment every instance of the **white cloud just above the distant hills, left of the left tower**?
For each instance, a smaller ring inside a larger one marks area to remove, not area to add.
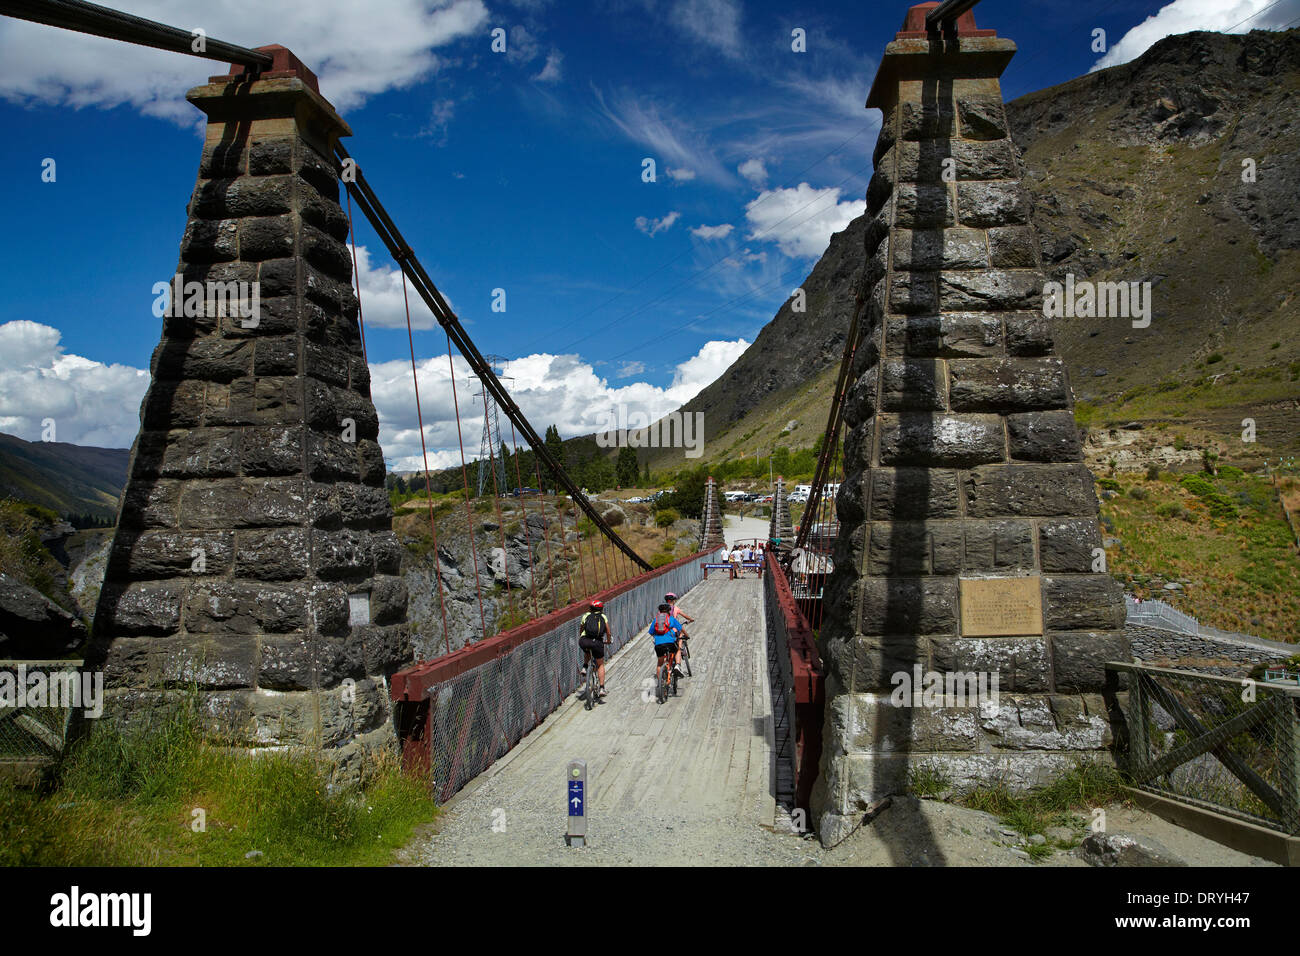
[[[17,320],[0,325],[0,432],[27,441],[55,420],[55,440],[129,447],[140,427],[150,373],[69,355],[58,329]]]

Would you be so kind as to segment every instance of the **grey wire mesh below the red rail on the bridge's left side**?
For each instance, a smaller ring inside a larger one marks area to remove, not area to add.
[[[671,566],[606,600],[612,636],[607,657],[646,628],[666,593],[684,594],[698,584],[701,561],[712,557],[697,555]],[[508,653],[429,687],[425,726],[417,734],[419,745],[428,747],[433,795],[439,803],[503,757],[577,689],[580,611],[564,615]]]

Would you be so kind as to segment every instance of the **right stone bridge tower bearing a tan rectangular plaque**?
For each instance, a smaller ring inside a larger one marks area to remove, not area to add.
[[[827,844],[918,766],[1023,790],[1104,756],[1102,665],[1128,657],[998,83],[1015,44],[970,13],[927,36],[935,7],[907,14],[867,99],[884,121],[820,635]],[[931,674],[985,683],[923,698]]]

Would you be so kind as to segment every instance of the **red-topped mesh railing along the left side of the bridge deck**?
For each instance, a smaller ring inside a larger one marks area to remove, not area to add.
[[[604,602],[618,652],[650,623],[668,592],[684,594],[703,578],[701,551],[646,571],[590,598],[393,675],[394,721],[403,765],[430,775],[445,803],[504,756],[577,689],[582,653],[577,622]]]

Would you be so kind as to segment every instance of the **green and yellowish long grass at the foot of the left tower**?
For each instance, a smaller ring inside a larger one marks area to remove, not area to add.
[[[385,865],[437,809],[395,753],[361,779],[334,782],[311,752],[222,747],[190,700],[143,732],[94,724],[43,792],[0,783],[0,865]]]

